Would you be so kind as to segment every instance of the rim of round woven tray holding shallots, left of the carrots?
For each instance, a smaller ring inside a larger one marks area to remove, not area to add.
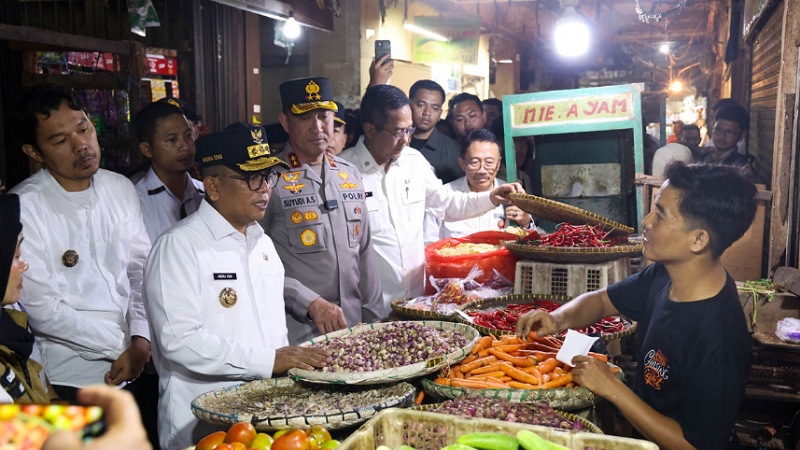
[[[444,357],[434,358],[428,361],[421,361],[418,363],[409,364],[407,366],[373,370],[369,372],[323,372],[320,370],[303,370],[294,368],[289,369],[289,376],[296,380],[322,384],[381,384],[405,381],[436,372],[450,364],[455,364],[461,361],[470,354],[472,348],[475,347],[475,343],[478,342],[478,338],[480,338],[480,333],[478,333],[478,330],[462,323],[427,320],[419,321],[417,323],[439,330],[456,330],[466,336],[467,345]],[[309,345],[331,340],[337,337],[354,335],[368,330],[377,330],[387,327],[390,324],[391,322],[362,324],[353,328],[339,330],[319,336],[300,345],[307,347]]]

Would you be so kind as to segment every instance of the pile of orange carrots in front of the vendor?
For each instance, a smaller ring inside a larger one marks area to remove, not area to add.
[[[473,389],[575,387],[572,367],[556,359],[561,345],[555,337],[538,337],[535,333],[527,339],[516,335],[484,336],[467,358],[445,369],[435,382]],[[608,362],[605,355],[589,355]]]

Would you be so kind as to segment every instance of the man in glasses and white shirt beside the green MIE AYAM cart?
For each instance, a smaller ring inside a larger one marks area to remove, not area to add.
[[[467,135],[464,150],[458,158],[458,164],[466,175],[444,187],[458,192],[488,192],[500,187],[506,184],[497,178],[500,160],[500,143],[495,135],[484,128],[473,130]],[[478,231],[503,231],[512,225],[528,230],[533,225],[533,219],[513,205],[498,205],[480,216],[463,220],[442,221],[433,213],[426,212],[425,243],[447,237],[463,237]]]

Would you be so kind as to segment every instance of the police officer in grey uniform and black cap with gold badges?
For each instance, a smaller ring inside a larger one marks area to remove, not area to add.
[[[286,268],[289,342],[387,314],[369,232],[361,174],[327,149],[334,114],[330,80],[310,77],[280,86],[279,119],[289,135],[284,172],[261,221]]]

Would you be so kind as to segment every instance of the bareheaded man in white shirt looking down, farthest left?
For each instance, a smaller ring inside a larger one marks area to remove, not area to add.
[[[150,357],[141,297],[150,240],[131,182],[99,168],[97,133],[72,92],[34,86],[13,119],[22,150],[44,166],[12,190],[31,268],[20,303],[48,378],[75,402],[82,386],[135,380]]]

